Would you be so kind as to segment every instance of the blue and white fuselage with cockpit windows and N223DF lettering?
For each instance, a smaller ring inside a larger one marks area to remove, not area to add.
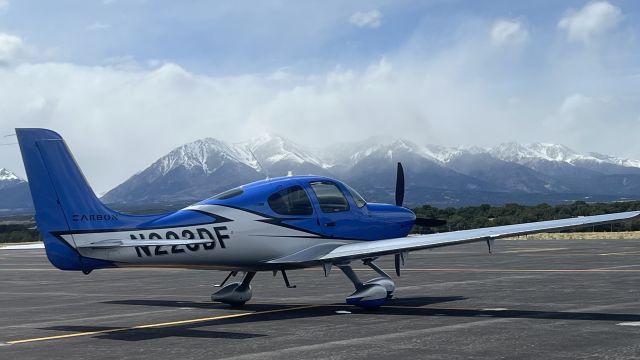
[[[274,268],[269,261],[308,249],[328,252],[352,242],[404,237],[414,223],[411,210],[366,203],[355,190],[337,180],[289,176],[231,189],[135,228],[60,236],[74,241],[83,257],[106,260],[115,266],[268,270]],[[114,239],[212,241],[114,249],[80,246]]]

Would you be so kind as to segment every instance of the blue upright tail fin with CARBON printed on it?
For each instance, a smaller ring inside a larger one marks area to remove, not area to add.
[[[120,214],[96,197],[60,135],[46,129],[16,129],[22,159],[49,261],[63,270],[88,272],[111,263],[82,257],[73,235],[135,226],[146,217]]]

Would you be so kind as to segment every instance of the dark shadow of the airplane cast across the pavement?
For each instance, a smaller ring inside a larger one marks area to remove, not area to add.
[[[108,304],[138,305],[138,306],[165,306],[165,307],[195,307],[205,309],[229,309],[247,310],[258,312],[250,316],[241,316],[228,319],[214,319],[190,324],[168,325],[157,328],[110,328],[90,326],[54,326],[43,330],[68,331],[68,332],[92,332],[107,331],[94,337],[99,339],[144,341],[168,337],[189,337],[207,339],[234,339],[246,340],[256,337],[269,336],[268,334],[240,333],[228,331],[201,330],[211,326],[250,324],[269,321],[301,320],[308,318],[329,318],[334,316],[349,316],[337,314],[336,310],[348,309],[352,314],[370,314],[371,316],[415,316],[415,317],[459,317],[459,318],[487,318],[487,319],[551,319],[551,320],[580,320],[580,321],[611,321],[631,322],[640,321],[638,314],[616,314],[602,312],[572,312],[572,311],[543,311],[543,310],[481,310],[465,308],[423,307],[432,304],[464,300],[461,296],[451,297],[406,297],[392,299],[388,306],[375,311],[367,311],[356,307],[346,307],[344,304],[317,305],[310,308],[291,309],[290,311],[260,313],[269,310],[285,310],[298,307],[301,304],[250,304],[242,308],[232,308],[227,305],[215,303],[199,303],[185,301],[166,300],[117,300],[107,301]]]

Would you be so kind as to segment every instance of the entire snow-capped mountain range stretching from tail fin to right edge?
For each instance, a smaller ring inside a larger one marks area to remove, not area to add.
[[[580,154],[547,143],[491,148],[419,145],[390,137],[310,151],[265,134],[229,144],[205,138],[180,146],[109,191],[107,202],[198,200],[267,176],[330,175],[371,201],[392,201],[395,166],[405,166],[408,204],[463,205],[640,198],[640,161]]]

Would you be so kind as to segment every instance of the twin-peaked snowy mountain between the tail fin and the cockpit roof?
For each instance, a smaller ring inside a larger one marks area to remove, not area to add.
[[[288,171],[327,174],[324,166],[309,151],[277,135],[239,144],[205,138],[172,150],[102,199],[110,203],[190,201]]]

